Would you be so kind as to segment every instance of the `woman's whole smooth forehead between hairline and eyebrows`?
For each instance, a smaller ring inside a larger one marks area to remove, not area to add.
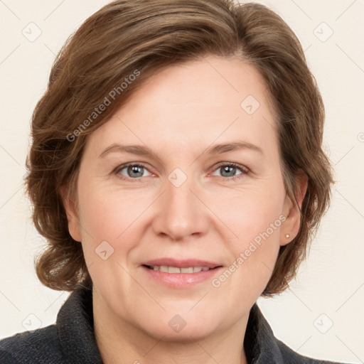
[[[259,71],[237,58],[210,56],[149,77],[88,143],[115,141],[183,149],[241,137],[264,144],[275,114]],[[98,149],[100,151],[100,149]]]

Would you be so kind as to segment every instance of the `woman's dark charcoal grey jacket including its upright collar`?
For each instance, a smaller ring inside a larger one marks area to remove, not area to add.
[[[277,340],[257,304],[250,311],[244,348],[250,364],[335,364],[306,358]],[[1,340],[0,363],[102,364],[93,331],[92,291],[73,291],[53,325]]]

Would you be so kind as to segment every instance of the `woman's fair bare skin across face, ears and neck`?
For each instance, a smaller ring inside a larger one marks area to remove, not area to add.
[[[240,106],[247,95],[260,104],[251,115]],[[156,73],[90,134],[77,180],[79,209],[71,199],[64,203],[92,277],[95,335],[105,363],[247,363],[242,342],[249,311],[267,286],[279,247],[294,239],[300,223],[284,191],[268,97],[252,65],[210,55]],[[206,152],[237,139],[262,153]],[[154,154],[99,158],[113,143],[148,146]],[[145,168],[115,171],[128,162]],[[227,172],[231,162],[248,172]],[[175,168],[187,177],[179,187],[168,180]],[[301,206],[306,179],[297,186]],[[280,227],[218,288],[210,279],[188,289],[167,287],[140,267],[176,257],[228,268],[282,215]],[[104,260],[95,249],[105,240],[114,252]],[[176,314],[186,321],[178,333],[168,325]]]

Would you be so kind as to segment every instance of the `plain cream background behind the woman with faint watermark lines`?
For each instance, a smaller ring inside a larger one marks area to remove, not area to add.
[[[29,121],[55,54],[107,2],[0,0],[0,338],[53,323],[68,297],[43,287],[33,267],[45,240],[23,190]],[[299,353],[363,363],[364,1],[259,2],[282,16],[304,47],[326,105],[324,145],[336,186],[296,281],[258,303],[277,338]]]

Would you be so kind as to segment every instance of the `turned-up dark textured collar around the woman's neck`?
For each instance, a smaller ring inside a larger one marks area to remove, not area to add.
[[[102,364],[93,329],[91,289],[73,291],[58,312],[56,326],[70,363]],[[277,339],[257,304],[250,310],[244,348],[250,364],[284,363]]]

